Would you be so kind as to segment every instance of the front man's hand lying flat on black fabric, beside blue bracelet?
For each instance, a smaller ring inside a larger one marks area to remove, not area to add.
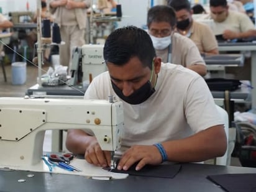
[[[128,149],[117,165],[118,170],[128,170],[135,162],[139,162],[135,170],[140,170],[145,165],[158,165],[162,157],[154,145],[134,145]]]

